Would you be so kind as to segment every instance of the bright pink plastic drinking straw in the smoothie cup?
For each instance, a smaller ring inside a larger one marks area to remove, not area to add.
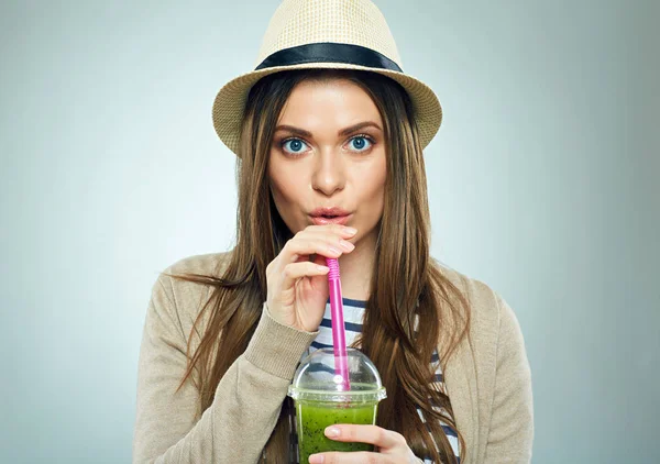
[[[332,346],[334,347],[334,374],[341,376],[340,387],[343,391],[351,389],[349,382],[349,362],[346,355],[346,333],[343,323],[343,301],[341,299],[341,280],[339,279],[339,263],[336,258],[327,257],[330,268],[328,273],[328,289],[330,290],[330,317],[332,318]]]

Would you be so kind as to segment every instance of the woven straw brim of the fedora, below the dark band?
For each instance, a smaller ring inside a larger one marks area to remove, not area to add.
[[[426,147],[430,143],[440,129],[440,124],[442,123],[442,107],[440,106],[438,97],[430,87],[410,75],[389,69],[377,69],[344,63],[306,63],[250,71],[227,82],[220,91],[218,91],[216,100],[213,101],[212,117],[216,133],[229,150],[240,156],[240,125],[245,109],[245,102],[248,100],[248,93],[252,86],[254,86],[262,77],[283,70],[321,68],[369,70],[387,76],[400,84],[413,100],[422,147]]]

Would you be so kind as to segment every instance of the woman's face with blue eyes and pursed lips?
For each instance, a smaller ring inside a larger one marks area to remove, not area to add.
[[[279,115],[268,165],[275,206],[289,230],[326,222],[315,218],[319,208],[339,208],[348,217],[333,221],[358,229],[352,241],[375,244],[385,154],[383,120],[361,87],[343,79],[297,85]]]

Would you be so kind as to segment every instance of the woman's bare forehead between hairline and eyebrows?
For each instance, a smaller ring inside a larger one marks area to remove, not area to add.
[[[381,121],[378,108],[358,84],[342,78],[307,79],[292,90],[279,122],[309,125]],[[360,121],[358,121],[360,120]]]

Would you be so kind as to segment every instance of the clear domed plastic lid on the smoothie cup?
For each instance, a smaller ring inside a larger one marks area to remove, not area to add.
[[[350,390],[336,372],[334,351],[320,349],[298,366],[288,396],[295,400],[329,402],[377,402],[387,397],[374,363],[360,350],[346,349]]]

